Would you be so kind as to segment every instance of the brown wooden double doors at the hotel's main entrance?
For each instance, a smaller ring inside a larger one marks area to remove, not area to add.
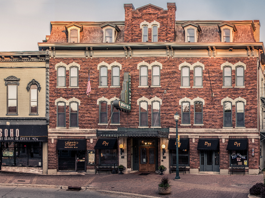
[[[155,171],[155,147],[139,147],[139,171]]]

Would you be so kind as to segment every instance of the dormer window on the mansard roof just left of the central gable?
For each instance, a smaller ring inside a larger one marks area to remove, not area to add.
[[[117,33],[120,31],[118,26],[113,23],[106,22],[100,25],[103,30],[103,43],[115,43]]]

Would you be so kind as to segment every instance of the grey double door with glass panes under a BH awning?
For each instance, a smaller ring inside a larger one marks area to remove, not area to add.
[[[220,171],[218,151],[201,150],[200,157],[200,171]]]

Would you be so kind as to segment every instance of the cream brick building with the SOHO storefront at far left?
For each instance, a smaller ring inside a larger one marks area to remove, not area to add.
[[[49,58],[45,51],[0,57],[0,170],[47,174]]]

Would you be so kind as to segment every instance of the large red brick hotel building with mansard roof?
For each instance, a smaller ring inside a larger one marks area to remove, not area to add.
[[[188,172],[228,174],[237,164],[257,174],[259,21],[176,21],[175,3],[124,9],[125,21],[51,22],[38,43],[49,53],[48,174],[94,173],[101,163],[168,172],[176,112],[179,164]]]

